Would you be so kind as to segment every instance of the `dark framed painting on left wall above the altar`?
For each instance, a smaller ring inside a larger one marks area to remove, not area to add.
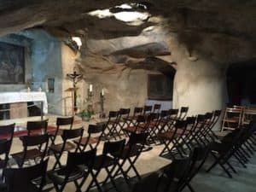
[[[24,47],[0,42],[0,84],[24,83]]]

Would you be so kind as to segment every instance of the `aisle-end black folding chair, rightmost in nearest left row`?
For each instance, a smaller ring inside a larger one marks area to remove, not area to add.
[[[113,174],[113,177],[116,177],[121,173],[125,177],[125,182],[131,186],[129,182],[128,173],[133,170],[138,179],[141,179],[139,172],[137,172],[137,168],[135,163],[139,158],[140,154],[143,152],[144,145],[147,141],[148,133],[131,133],[130,139],[127,144],[125,144],[125,148],[123,149],[121,154],[114,154],[121,162],[118,162],[118,170]],[[129,166],[125,170],[125,163],[128,162]]]

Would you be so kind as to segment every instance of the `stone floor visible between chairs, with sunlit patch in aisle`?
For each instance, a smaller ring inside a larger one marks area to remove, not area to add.
[[[49,118],[49,125],[55,124],[55,116],[48,116],[46,118]],[[38,118],[33,118],[38,119]],[[96,121],[99,121],[99,119],[92,119],[89,123],[95,123]],[[26,119],[16,119],[15,122],[17,122],[18,125],[25,125],[24,122],[26,122]],[[0,124],[3,124],[3,122],[0,122]],[[81,125],[84,125],[84,127],[87,127],[89,124],[88,122],[82,122],[80,120],[76,121],[75,127],[79,127]],[[58,138],[59,141],[61,141],[60,138]],[[166,166],[168,163],[171,163],[171,160],[167,160],[165,158],[159,157],[160,150],[162,149],[162,146],[154,146],[154,148],[148,152],[144,152],[140,158],[137,160],[136,166],[138,171],[141,174],[145,174],[148,172],[154,172],[155,170],[158,170],[162,166]],[[14,139],[14,143],[11,148],[11,153],[17,152],[21,150],[21,143],[18,138]],[[102,143],[100,144],[97,153],[102,152]],[[51,165],[54,163],[54,158],[49,158],[49,169]],[[63,163],[65,163],[66,159],[65,156],[63,156],[62,160]],[[222,169],[218,166],[216,166],[212,172],[207,173],[205,172],[206,167],[209,166],[211,162],[211,158],[207,160],[207,165],[202,167],[201,172],[193,179],[192,185],[195,189],[195,191],[198,192],[255,192],[256,191],[256,155],[253,156],[253,158],[250,160],[250,163],[247,165],[247,169],[242,168],[241,166],[237,165],[236,162],[233,162],[233,164],[236,166],[236,170],[238,171],[238,174],[234,174],[234,177],[231,179],[227,177]],[[105,173],[102,172],[100,174],[99,180],[102,180],[105,176]],[[132,177],[132,175],[131,175]],[[88,185],[90,182],[90,177],[87,179],[87,182],[84,184],[84,188]],[[122,192],[128,192],[131,191],[127,188],[127,186],[124,184],[124,181],[121,177],[117,178],[117,183],[119,185],[119,189]],[[50,191],[55,191],[54,189]],[[67,187],[64,190],[65,192],[72,192],[75,191],[73,183],[67,184]],[[96,191],[92,189],[91,191]],[[110,190],[113,191],[113,190]],[[184,189],[184,192],[189,191],[189,189]]]

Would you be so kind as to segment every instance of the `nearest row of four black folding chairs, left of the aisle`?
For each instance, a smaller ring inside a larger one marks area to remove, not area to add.
[[[56,191],[63,191],[67,183],[71,182],[75,184],[77,191],[81,191],[84,182],[90,176],[92,179],[86,191],[94,186],[98,191],[103,191],[102,186],[108,181],[118,190],[114,178],[120,174],[125,178],[128,186],[131,186],[129,172],[133,170],[140,178],[135,162],[143,151],[147,137],[148,134],[145,133],[134,133],[127,142],[125,139],[105,142],[102,154],[96,154],[96,148],[84,152],[79,151],[78,147],[74,152],[68,152],[66,165],[61,165],[58,169],[47,173],[48,160],[45,159],[35,166],[4,168],[4,182],[0,184],[0,188],[8,192],[41,191],[47,176],[53,182]],[[129,163],[129,166],[124,166],[125,163]],[[97,177],[102,170],[107,172],[107,177],[102,183],[99,183]],[[38,179],[38,177],[40,178]],[[34,178],[37,179],[34,180]]]

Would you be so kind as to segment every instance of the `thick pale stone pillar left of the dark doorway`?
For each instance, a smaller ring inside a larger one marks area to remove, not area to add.
[[[223,109],[226,102],[225,67],[210,59],[188,58],[177,63],[174,79],[174,108],[189,107],[189,115]]]

